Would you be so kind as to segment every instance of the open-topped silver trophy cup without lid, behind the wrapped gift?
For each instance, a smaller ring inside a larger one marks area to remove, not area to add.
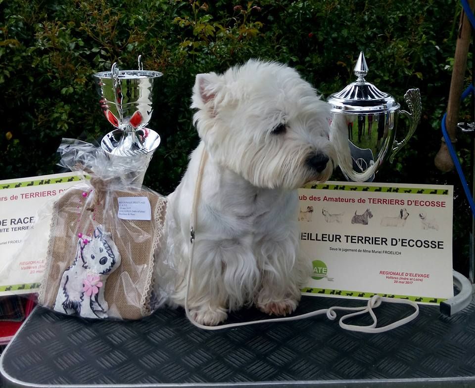
[[[147,128],[153,112],[153,93],[162,73],[143,70],[141,56],[138,70],[119,70],[117,63],[111,71],[95,73],[99,103],[107,121],[115,127],[101,141],[109,159],[137,166],[133,182],[142,184],[160,136]],[[127,158],[127,159],[124,159]]]

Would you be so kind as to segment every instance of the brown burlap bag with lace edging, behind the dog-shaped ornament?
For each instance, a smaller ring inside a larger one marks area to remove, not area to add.
[[[120,253],[120,265],[102,285],[108,304],[106,316],[139,319],[151,312],[153,253],[161,244],[166,199],[144,189],[105,191],[100,201],[95,200],[97,195],[94,187],[82,183],[65,191],[54,202],[47,267],[38,295],[39,303],[67,313],[54,305],[61,278],[76,259],[78,239],[86,237],[88,231],[91,236],[96,225],[104,225]],[[150,219],[119,218],[118,199],[123,197],[146,198],[150,203]],[[87,263],[79,264],[84,266]],[[71,312],[82,315],[79,311]],[[103,318],[104,314],[97,317]]]

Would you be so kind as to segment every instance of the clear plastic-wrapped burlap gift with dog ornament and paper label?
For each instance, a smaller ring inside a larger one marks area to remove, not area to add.
[[[110,157],[65,139],[60,164],[88,175],[51,200],[18,255],[46,255],[38,302],[87,318],[138,319],[152,312],[154,252],[166,198],[137,183],[141,157]],[[46,228],[46,230],[45,230]],[[47,236],[47,237],[46,237]],[[47,241],[45,241],[45,238]],[[22,259],[28,259],[23,257]]]

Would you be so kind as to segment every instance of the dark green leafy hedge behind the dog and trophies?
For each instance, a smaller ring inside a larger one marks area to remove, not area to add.
[[[353,81],[364,50],[369,81],[402,105],[409,87],[423,99],[420,128],[378,180],[456,182],[433,157],[460,9],[456,0],[0,0],[0,178],[57,172],[62,137],[94,141],[111,129],[92,74],[114,61],[135,68],[142,54],[146,69],[164,73],[149,125],[162,145],[145,183],[167,194],[198,141],[189,108],[197,73],[251,57],[276,60],[327,97]],[[465,163],[469,140],[461,140]]]

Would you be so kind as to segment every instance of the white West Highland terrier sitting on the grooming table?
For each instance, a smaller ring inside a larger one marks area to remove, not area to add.
[[[311,274],[309,261],[299,256],[297,188],[327,180],[336,166],[329,104],[295,70],[250,60],[223,75],[198,74],[191,107],[197,109],[201,142],[168,197],[156,294],[162,301],[185,303],[190,213],[206,152],[191,316],[217,325],[246,304],[271,315],[290,314]]]

